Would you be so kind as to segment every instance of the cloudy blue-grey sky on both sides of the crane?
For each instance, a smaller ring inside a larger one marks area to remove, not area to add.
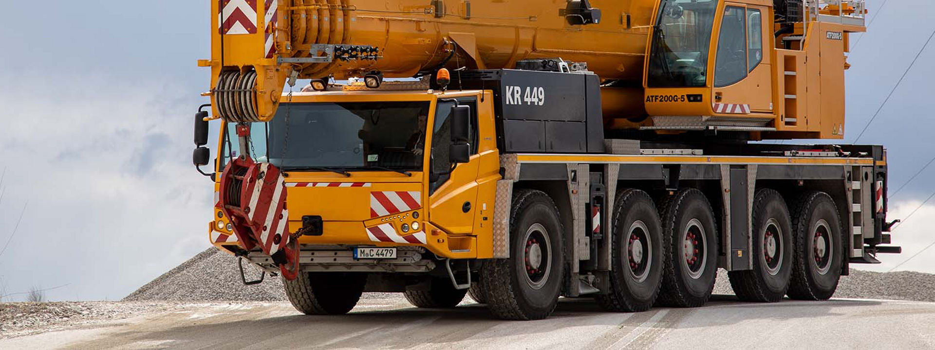
[[[926,0],[881,4],[868,0],[880,17],[848,60],[846,141],[935,30],[918,10]],[[209,70],[195,64],[209,58],[208,3],[4,7],[28,15],[0,24],[0,296],[119,300],[208,248],[212,187],[191,164],[194,111],[208,103]],[[935,45],[860,140],[887,147],[891,192],[935,156],[932,61]],[[932,180],[935,166],[891,198],[891,219],[915,211],[893,232],[904,253],[855,268],[887,271],[935,241],[935,200],[920,206]],[[935,247],[899,270],[935,273]]]

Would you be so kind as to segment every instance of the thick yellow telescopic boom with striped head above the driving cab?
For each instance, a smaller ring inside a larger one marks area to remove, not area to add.
[[[586,62],[635,83],[658,0],[221,0],[211,3],[214,115],[272,119],[295,78],[413,77],[441,67]],[[598,4],[599,3],[599,4]]]

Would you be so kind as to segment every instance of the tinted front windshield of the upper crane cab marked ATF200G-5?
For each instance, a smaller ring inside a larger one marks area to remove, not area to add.
[[[650,47],[646,85],[703,87],[717,0],[663,0]]]

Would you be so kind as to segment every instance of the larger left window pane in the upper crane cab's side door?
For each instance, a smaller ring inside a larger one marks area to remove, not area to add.
[[[747,77],[746,14],[743,7],[726,7],[717,41],[714,87],[723,88]]]

